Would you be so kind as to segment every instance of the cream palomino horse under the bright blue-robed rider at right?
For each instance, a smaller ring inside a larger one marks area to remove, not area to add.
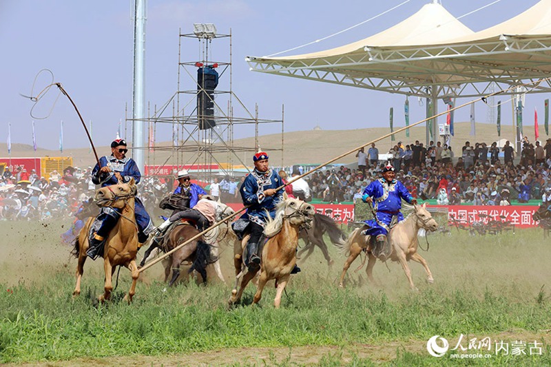
[[[414,205],[413,213],[410,213],[402,222],[396,224],[391,232],[388,234],[388,241],[391,242],[391,260],[397,261],[404,268],[406,277],[408,277],[408,282],[411,289],[416,289],[411,278],[411,271],[408,266],[408,261],[413,260],[419,262],[425,268],[427,275],[427,282],[433,283],[433,275],[428,269],[428,264],[426,260],[417,253],[417,232],[419,229],[423,228],[427,231],[435,231],[438,229],[437,222],[433,219],[430,213],[426,210],[426,203],[424,205]],[[363,228],[358,228],[353,231],[349,239],[346,241],[344,247],[341,247],[344,253],[349,253],[349,258],[344,262],[344,267],[342,269],[342,274],[340,275],[339,286],[342,287],[344,283],[344,276],[346,271],[349,269],[352,262],[357,258],[362,251],[366,249],[368,256],[367,262],[367,277],[371,282],[373,280],[373,266],[377,261],[377,258],[371,252],[371,247],[368,245],[370,242],[370,236],[364,236],[361,234]]]

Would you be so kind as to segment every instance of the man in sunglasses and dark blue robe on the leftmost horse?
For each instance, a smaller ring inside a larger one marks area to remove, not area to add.
[[[111,143],[111,155],[103,156],[99,159],[92,170],[92,182],[101,187],[117,185],[119,182],[128,183],[132,178],[136,184],[140,182],[141,174],[136,162],[126,156],[128,149],[124,139],[117,138]],[[147,240],[149,233],[154,229],[153,222],[147,211],[143,207],[141,200],[134,198],[134,213],[136,224],[138,226],[138,242],[143,243]],[[112,207],[102,207],[99,215],[96,217],[96,223],[101,223],[99,228],[90,240],[90,248],[86,251],[92,260],[96,260],[101,251],[105,238],[118,222],[122,209]]]

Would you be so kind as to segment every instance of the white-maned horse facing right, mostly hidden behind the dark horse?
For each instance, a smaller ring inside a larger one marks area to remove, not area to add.
[[[220,220],[231,216],[231,214],[233,213],[235,213],[235,211],[233,211],[231,207],[223,204],[222,202],[218,202],[218,209],[216,210],[216,221],[219,222]],[[167,235],[168,233],[166,233],[163,238],[167,237]],[[205,233],[205,241],[211,244],[211,258],[216,259],[216,261],[212,264],[214,266],[214,271],[216,272],[216,275],[218,275],[218,278],[224,283],[226,281],[224,279],[224,275],[222,275],[222,270],[220,269],[220,261],[218,260],[218,248],[221,243],[231,244],[234,240],[237,240],[237,236],[235,233],[233,233],[231,227],[227,222]],[[164,242],[164,240],[161,240],[161,242]],[[160,249],[160,247],[158,247],[156,244],[151,244],[151,246],[149,246],[149,248],[145,251],[139,267],[143,267],[147,262],[152,260],[161,251],[162,250]],[[167,266],[170,266],[170,263],[170,257],[168,260],[163,260],[163,264],[165,265],[165,272],[167,271]],[[170,272],[170,270],[168,270],[168,272]],[[165,273],[165,282],[167,282],[167,280],[168,275]]]

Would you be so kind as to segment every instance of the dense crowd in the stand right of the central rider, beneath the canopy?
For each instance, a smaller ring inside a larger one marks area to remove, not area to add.
[[[519,159],[509,142],[501,148],[497,143],[490,147],[475,143],[473,147],[466,142],[457,156],[440,142],[430,142],[428,147],[419,141],[398,142],[388,151],[388,160],[381,160],[372,144],[367,154],[360,149],[356,157],[358,169],[335,167],[306,178],[313,198],[333,203],[355,201],[366,185],[380,178],[388,162],[415,198],[436,199],[442,205],[510,205],[512,200],[528,202],[551,194],[551,138],[545,146],[524,138]]]

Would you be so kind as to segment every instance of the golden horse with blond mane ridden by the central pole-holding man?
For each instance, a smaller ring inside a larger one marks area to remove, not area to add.
[[[315,214],[314,208],[307,202],[290,198],[278,204],[275,219],[269,220],[264,228],[264,235],[268,238],[262,249],[260,261],[260,280],[258,289],[254,295],[253,303],[258,303],[262,297],[262,289],[269,280],[275,279],[278,290],[273,302],[275,308],[280,307],[281,295],[291,270],[297,262],[296,251],[300,227],[308,225]],[[256,271],[246,271],[247,267],[242,259],[248,254],[244,253],[249,236],[245,236],[238,249],[234,249],[234,262],[236,265],[236,286],[231,291],[230,306],[240,301],[243,291],[249,282],[255,277]],[[239,280],[241,279],[241,283]],[[237,289],[239,285],[239,290]]]

